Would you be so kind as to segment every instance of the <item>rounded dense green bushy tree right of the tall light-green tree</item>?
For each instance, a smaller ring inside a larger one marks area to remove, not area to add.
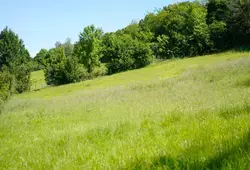
[[[141,68],[153,60],[150,45],[133,39],[129,34],[107,34],[104,37],[103,57],[109,61],[109,74]]]

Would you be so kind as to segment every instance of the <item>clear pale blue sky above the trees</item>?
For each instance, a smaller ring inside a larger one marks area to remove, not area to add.
[[[87,25],[116,31],[174,0],[2,0],[0,30],[11,28],[32,57],[67,37],[75,42]]]

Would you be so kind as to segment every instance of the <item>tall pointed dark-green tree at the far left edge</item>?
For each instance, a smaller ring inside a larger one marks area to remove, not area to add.
[[[11,29],[0,33],[0,111],[11,93],[22,93],[30,88],[31,61],[23,41]]]

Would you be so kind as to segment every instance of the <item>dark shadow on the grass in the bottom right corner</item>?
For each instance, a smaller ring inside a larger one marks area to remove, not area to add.
[[[247,158],[250,153],[250,131],[241,139],[237,141],[237,144],[228,146],[228,149],[224,149],[223,152],[219,152],[212,157],[208,157],[206,160],[201,161],[199,157],[195,157],[195,151],[197,148],[189,148],[188,151],[184,151],[180,157],[173,157],[171,155],[161,155],[153,158],[150,163],[143,160],[137,160],[129,165],[130,169],[247,169]],[[230,141],[226,141],[223,146],[227,146]],[[227,147],[226,147],[227,148]],[[190,151],[194,150],[193,153]],[[242,157],[246,158],[246,164],[237,162],[237,159]],[[240,167],[239,167],[240,166]]]

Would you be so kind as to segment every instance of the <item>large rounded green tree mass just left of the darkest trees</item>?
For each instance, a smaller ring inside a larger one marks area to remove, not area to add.
[[[161,58],[201,55],[209,51],[211,42],[206,24],[206,9],[194,2],[164,8],[157,17],[156,36]],[[165,43],[165,44],[164,44]]]

